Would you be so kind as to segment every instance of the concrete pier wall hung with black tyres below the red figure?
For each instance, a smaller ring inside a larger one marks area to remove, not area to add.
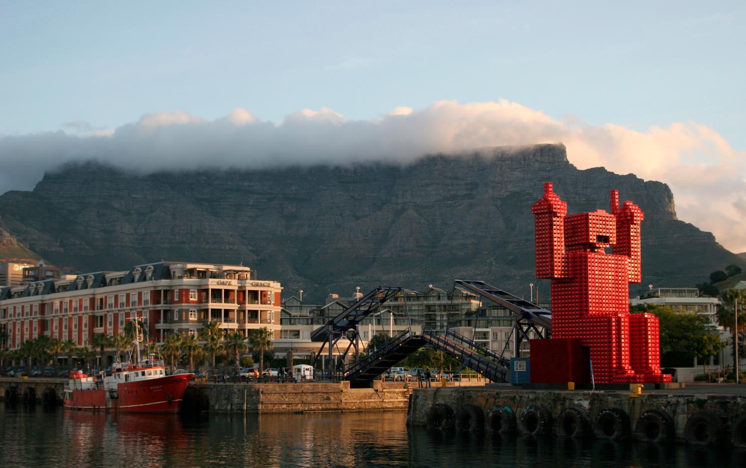
[[[510,385],[413,390],[407,424],[566,437],[746,446],[746,386],[522,390]]]

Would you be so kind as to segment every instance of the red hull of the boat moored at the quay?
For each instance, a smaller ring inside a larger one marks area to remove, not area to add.
[[[116,398],[107,390],[67,392],[65,408],[78,411],[119,413],[178,413],[186,385],[194,374],[168,375],[117,385]]]

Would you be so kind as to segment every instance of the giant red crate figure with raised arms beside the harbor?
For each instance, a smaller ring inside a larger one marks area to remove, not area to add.
[[[619,207],[611,191],[611,213],[567,215],[567,204],[544,184],[544,196],[531,208],[536,223],[536,277],[551,278],[552,338],[578,340],[590,350],[599,384],[664,383],[660,371],[658,319],[630,313],[630,283],[642,281],[642,210],[633,202]],[[605,252],[612,246],[612,253]],[[533,340],[532,340],[533,341]],[[537,360],[562,358],[563,346],[545,343]],[[554,356],[552,356],[554,355]],[[533,360],[532,360],[533,361]],[[532,362],[533,371],[534,364]],[[532,382],[561,382],[562,366],[537,366]],[[535,380],[536,379],[536,380]]]

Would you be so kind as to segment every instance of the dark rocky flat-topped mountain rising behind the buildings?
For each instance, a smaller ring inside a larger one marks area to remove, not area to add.
[[[712,234],[678,221],[665,184],[578,170],[561,145],[433,155],[407,166],[136,175],[81,163],[47,174],[33,192],[0,196],[0,225],[78,271],[160,259],[243,262],[260,278],[282,281],[286,296],[303,289],[311,299],[348,296],[355,286],[447,286],[454,278],[527,294],[536,283],[530,207],[544,181],[554,182],[571,212],[608,209],[612,188],[641,206],[638,290],[689,286],[744,263]],[[548,293],[548,284],[541,290]]]

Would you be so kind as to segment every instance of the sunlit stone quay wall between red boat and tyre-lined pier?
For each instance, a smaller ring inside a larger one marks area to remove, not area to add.
[[[405,384],[374,382],[350,388],[349,382],[304,384],[192,383],[184,412],[309,413],[322,411],[407,411],[411,390]]]

